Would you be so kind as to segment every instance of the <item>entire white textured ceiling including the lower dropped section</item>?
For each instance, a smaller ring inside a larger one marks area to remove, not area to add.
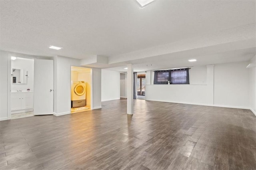
[[[135,71],[248,61],[255,1],[0,1],[0,49],[29,55],[108,58],[91,66]],[[50,45],[63,47],[56,51]],[[188,63],[191,57],[196,63]],[[167,62],[168,61],[168,62]],[[152,64],[152,67],[145,66]]]

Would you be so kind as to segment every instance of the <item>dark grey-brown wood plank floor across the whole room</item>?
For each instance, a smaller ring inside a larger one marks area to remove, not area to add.
[[[256,169],[249,110],[136,100],[0,122],[0,169]]]

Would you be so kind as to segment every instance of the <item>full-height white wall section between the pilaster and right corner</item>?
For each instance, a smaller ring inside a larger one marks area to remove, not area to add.
[[[214,65],[214,105],[249,108],[249,62]]]

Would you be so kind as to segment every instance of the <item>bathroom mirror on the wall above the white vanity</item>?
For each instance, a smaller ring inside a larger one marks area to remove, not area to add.
[[[24,69],[12,69],[12,83],[26,84],[28,71]]]

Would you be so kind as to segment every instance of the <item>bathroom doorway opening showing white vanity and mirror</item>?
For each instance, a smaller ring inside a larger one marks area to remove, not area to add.
[[[11,57],[11,119],[34,116],[34,59]]]

